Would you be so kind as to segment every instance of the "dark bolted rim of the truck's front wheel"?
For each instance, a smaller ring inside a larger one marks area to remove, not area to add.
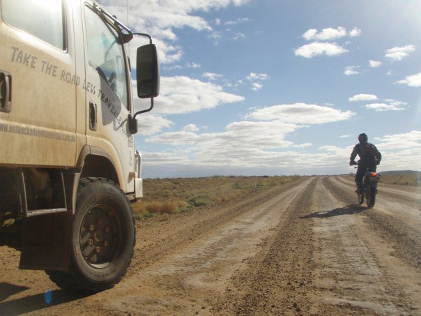
[[[86,212],[80,227],[80,249],[87,264],[104,268],[118,255],[121,225],[116,211],[98,204]]]

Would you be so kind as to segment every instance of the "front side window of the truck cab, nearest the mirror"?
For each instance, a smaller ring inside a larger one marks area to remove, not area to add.
[[[85,20],[89,65],[128,108],[125,58],[118,31],[88,7],[85,8]]]

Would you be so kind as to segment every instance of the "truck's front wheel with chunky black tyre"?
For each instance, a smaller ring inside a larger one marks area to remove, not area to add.
[[[116,184],[103,178],[79,181],[67,272],[47,271],[65,289],[100,292],[125,275],[135,246],[130,202]]]

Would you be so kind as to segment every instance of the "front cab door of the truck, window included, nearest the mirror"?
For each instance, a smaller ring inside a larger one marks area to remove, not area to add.
[[[130,67],[120,31],[100,10],[84,7],[86,31],[86,142],[105,153],[116,168],[121,188],[134,190],[134,136],[128,131],[131,107]]]

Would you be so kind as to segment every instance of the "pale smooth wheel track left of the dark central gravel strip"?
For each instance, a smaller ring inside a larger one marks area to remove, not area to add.
[[[112,315],[121,311],[135,313],[127,307],[118,308],[123,302],[130,302],[130,306],[141,306],[145,315],[171,314],[177,309],[208,313],[212,298],[224,292],[231,275],[245,269],[247,258],[254,257],[263,247],[262,241],[274,234],[284,216],[280,204],[288,204],[308,183],[309,180],[282,193],[278,191],[257,206],[247,206],[235,218],[214,227],[212,234],[178,246],[125,281],[126,288],[141,283],[141,294],[119,292],[118,299],[101,306],[102,310]]]

